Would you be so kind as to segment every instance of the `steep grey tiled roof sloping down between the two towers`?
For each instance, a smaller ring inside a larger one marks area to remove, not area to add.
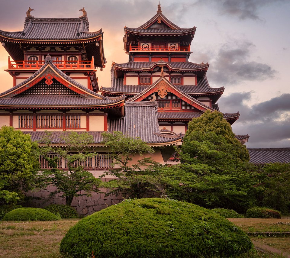
[[[126,102],[124,118],[110,119],[110,132],[121,131],[129,137],[140,137],[147,143],[166,143],[181,136],[160,134],[156,102]]]

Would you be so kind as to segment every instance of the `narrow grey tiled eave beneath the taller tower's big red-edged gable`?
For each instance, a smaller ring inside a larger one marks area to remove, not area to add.
[[[191,120],[192,118],[200,117],[203,112],[158,112],[159,120]],[[239,112],[223,114],[225,119],[235,118],[240,115]]]

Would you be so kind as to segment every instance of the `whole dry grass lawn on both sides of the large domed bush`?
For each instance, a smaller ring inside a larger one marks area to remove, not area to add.
[[[249,228],[259,232],[290,231],[290,225],[277,224],[290,222],[290,219],[229,219],[244,231]],[[64,258],[59,253],[60,241],[66,231],[75,225],[79,219],[62,219],[60,221],[29,221],[29,222],[0,222],[0,257],[47,257]],[[253,251],[240,258],[274,258],[288,257],[290,254],[290,237],[252,237],[256,246],[277,255]],[[268,248],[268,249],[267,249]],[[271,250],[269,250],[269,248]],[[277,251],[278,250],[278,251]],[[281,256],[283,252],[283,256]],[[289,256],[290,257],[290,256]]]

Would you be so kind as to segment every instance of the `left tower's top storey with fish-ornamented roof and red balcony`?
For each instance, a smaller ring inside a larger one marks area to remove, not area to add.
[[[44,64],[45,56],[50,54],[55,64],[62,64],[63,69],[69,69],[72,64],[86,68],[83,65],[91,63],[81,61],[91,61],[92,56],[93,66],[105,67],[103,32],[101,29],[89,31],[84,8],[80,10],[83,15],[79,18],[35,18],[31,11],[34,10],[29,8],[26,13],[22,31],[0,30],[2,46],[14,60],[8,66],[14,64],[16,68],[21,64],[23,69],[33,69],[35,65],[39,68]]]

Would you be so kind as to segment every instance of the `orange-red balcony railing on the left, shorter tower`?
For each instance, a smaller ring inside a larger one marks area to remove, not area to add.
[[[33,60],[33,61],[13,61],[8,57],[8,69],[39,69],[44,65],[43,60]],[[59,69],[86,69],[94,70],[94,57],[91,61],[53,61],[53,64]]]

